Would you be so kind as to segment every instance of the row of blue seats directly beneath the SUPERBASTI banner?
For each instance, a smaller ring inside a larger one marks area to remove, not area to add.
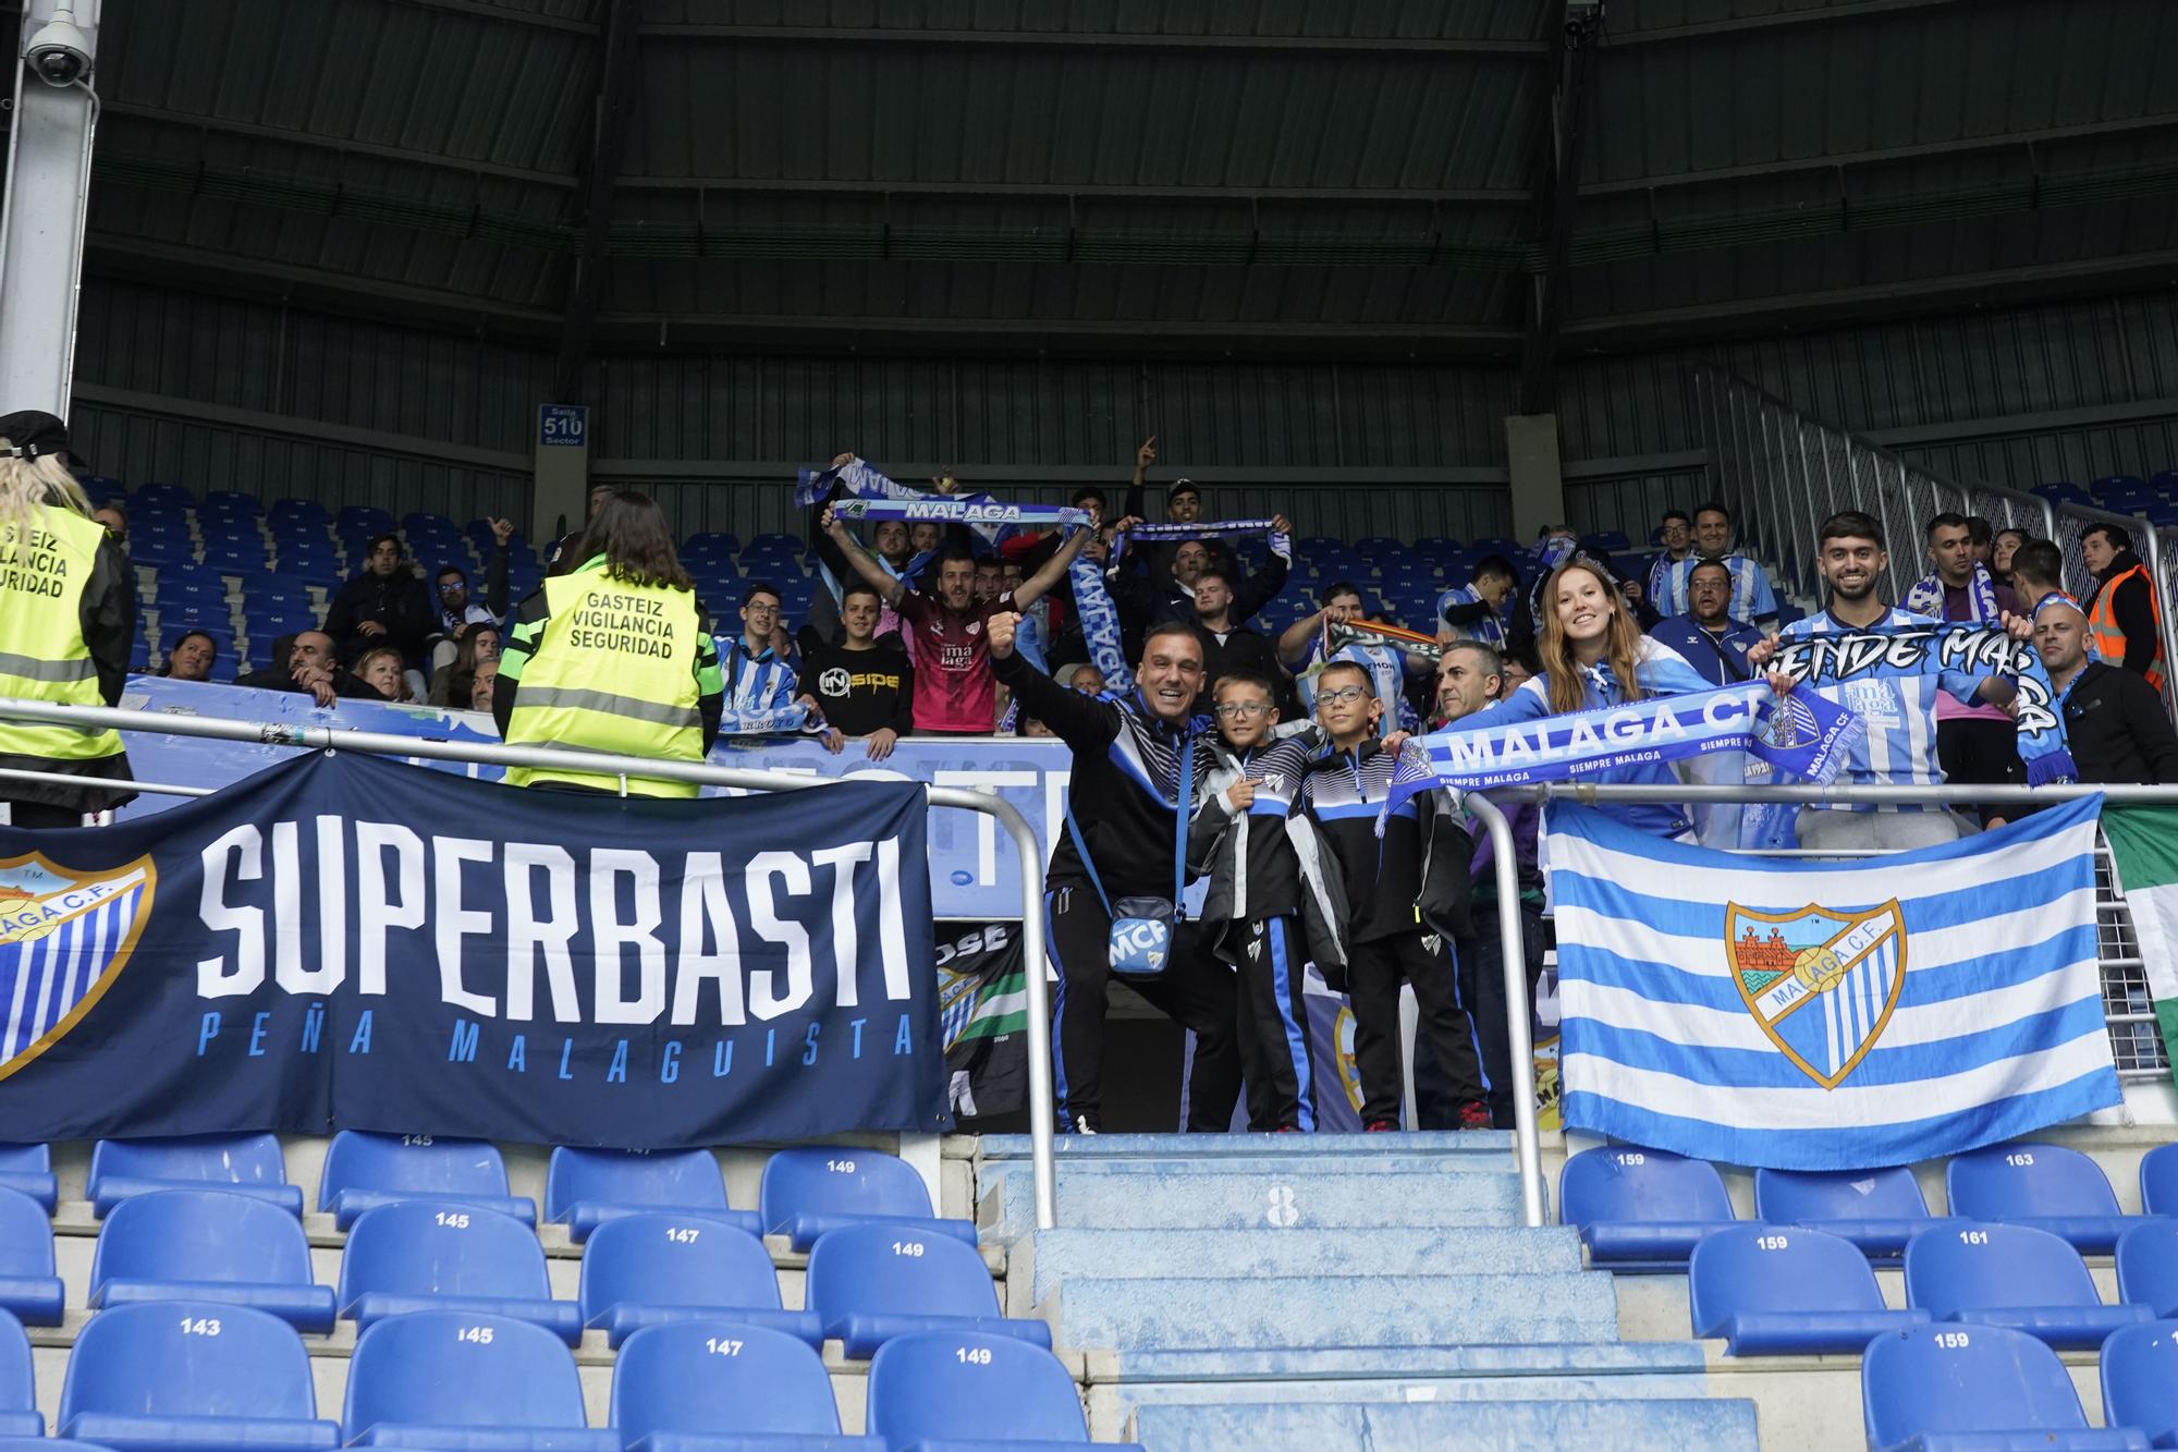
[[[17,1190],[48,1214],[59,1197],[52,1149],[0,1145],[0,1188]],[[105,1219],[133,1195],[220,1188],[303,1214],[303,1190],[287,1182],[287,1158],[270,1134],[205,1134],[170,1140],[98,1140],[87,1193]],[[318,1210],[346,1230],[366,1210],[405,1199],[460,1201],[536,1223],[536,1201],[507,1193],[507,1166],[484,1140],[429,1134],[342,1129],[325,1149]],[[544,1219],[582,1243],[623,1214],[680,1210],[749,1234],[784,1234],[808,1249],[828,1230],[880,1219],[919,1223],[932,1234],[976,1243],[967,1221],[941,1221],[921,1175],[880,1149],[802,1145],[764,1162],[756,1212],[725,1201],[725,1177],[706,1149],[551,1151],[544,1169]]]

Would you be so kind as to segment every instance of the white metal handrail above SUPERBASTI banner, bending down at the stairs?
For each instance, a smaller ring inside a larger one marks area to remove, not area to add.
[[[479,761],[490,765],[562,767],[590,776],[649,776],[688,781],[706,787],[741,787],[747,791],[815,791],[834,785],[823,776],[791,776],[786,772],[745,772],[693,761],[653,761],[610,752],[571,752],[549,746],[492,746],[486,741],[442,741],[433,737],[394,737],[344,726],[292,726],[274,722],[227,722],[203,715],[161,715],[157,711],[122,711],[118,706],[57,706],[50,702],[0,698],[0,719],[46,722],[98,730],[142,730],[168,737],[207,737],[213,741],[250,741],[257,746],[294,746],[303,750],[364,752],[370,757],[431,757],[433,761]],[[115,785],[102,778],[72,776],[76,785]],[[172,787],[168,787],[174,791]],[[200,787],[179,789],[196,796]],[[1028,818],[995,794],[969,787],[923,787],[932,807],[958,807],[998,818],[1021,855],[1021,975],[1028,990],[1028,1138],[1037,1188],[1037,1230],[1059,1225],[1059,1188],[1052,1160],[1052,1012],[1043,972],[1043,850]]]

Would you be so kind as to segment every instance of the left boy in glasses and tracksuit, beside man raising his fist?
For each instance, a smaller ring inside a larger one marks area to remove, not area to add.
[[[1211,689],[1218,735],[1196,794],[1187,866],[1209,874],[1202,942],[1237,975],[1237,1040],[1248,1127],[1313,1132],[1305,966],[1346,975],[1346,890],[1316,824],[1294,813],[1320,726],[1281,735],[1276,687],[1237,671]]]

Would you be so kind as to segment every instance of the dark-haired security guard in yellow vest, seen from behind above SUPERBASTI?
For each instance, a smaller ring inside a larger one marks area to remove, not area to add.
[[[701,761],[719,737],[725,682],[695,586],[649,495],[610,491],[577,541],[582,562],[523,602],[499,656],[492,717],[507,746]],[[512,767],[516,787],[621,791],[605,772]],[[695,783],[629,776],[634,796],[695,796]]]

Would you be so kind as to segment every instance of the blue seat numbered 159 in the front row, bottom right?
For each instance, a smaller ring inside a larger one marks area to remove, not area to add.
[[[2137,1428],[2091,1428],[2056,1352],[2002,1326],[1917,1326],[1869,1343],[1860,1404],[1871,1452],[2145,1448]]]

